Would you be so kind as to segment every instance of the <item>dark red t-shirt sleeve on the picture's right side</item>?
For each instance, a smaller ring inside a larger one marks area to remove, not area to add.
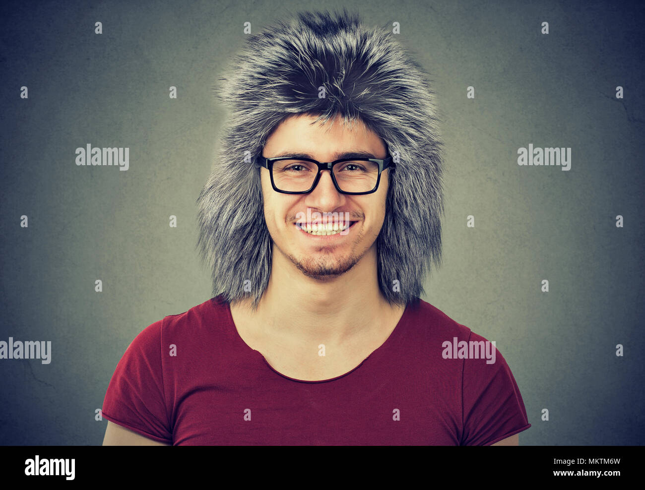
[[[468,340],[488,342],[474,332]],[[531,427],[511,369],[497,347],[487,347],[487,358],[464,359],[462,446],[490,446]]]

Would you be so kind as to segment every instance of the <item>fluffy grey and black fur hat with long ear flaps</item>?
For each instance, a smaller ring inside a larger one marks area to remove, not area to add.
[[[443,150],[430,82],[394,37],[346,10],[303,12],[248,37],[215,87],[231,117],[197,199],[197,247],[212,270],[214,296],[252,297],[256,308],[268,285],[272,240],[253,162],[297,113],[323,121],[342,115],[344,124],[358,118],[388,144],[396,168],[377,238],[379,288],[390,304],[424,292],[426,271],[441,265]]]

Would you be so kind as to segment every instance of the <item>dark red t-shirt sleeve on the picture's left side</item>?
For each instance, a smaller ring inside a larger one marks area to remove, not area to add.
[[[172,444],[161,369],[159,320],[126,349],[103,400],[103,417],[158,442]]]

